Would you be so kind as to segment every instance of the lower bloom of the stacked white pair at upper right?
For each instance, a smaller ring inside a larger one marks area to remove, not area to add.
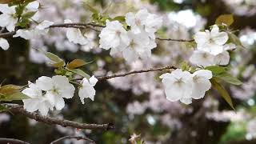
[[[190,62],[197,66],[214,66],[214,55],[206,51],[195,50],[190,57]]]

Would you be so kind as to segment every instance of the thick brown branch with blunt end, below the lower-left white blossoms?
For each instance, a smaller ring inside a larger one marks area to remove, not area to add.
[[[31,113],[23,109],[22,106],[17,104],[10,104],[5,103],[4,106],[10,110],[11,113],[14,114],[22,114],[28,118],[34,119],[38,122],[44,122],[49,125],[60,125],[63,127],[70,126],[78,129],[89,129],[89,130],[112,130],[114,129],[114,125],[111,123],[108,124],[87,124],[87,123],[79,123],[73,122],[65,119],[58,119],[58,118],[50,118],[47,116],[42,116],[38,113]]]

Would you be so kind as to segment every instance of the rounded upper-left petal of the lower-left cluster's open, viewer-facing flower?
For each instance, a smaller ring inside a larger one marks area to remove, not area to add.
[[[53,90],[54,82],[50,77],[42,76],[36,80],[36,85],[40,90]]]

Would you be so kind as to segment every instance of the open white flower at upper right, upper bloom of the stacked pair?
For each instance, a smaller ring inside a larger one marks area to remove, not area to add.
[[[194,36],[194,40],[198,44],[198,50],[207,51],[214,55],[222,53],[224,50],[223,45],[228,38],[226,32],[219,32],[216,25],[210,31],[198,32]]]

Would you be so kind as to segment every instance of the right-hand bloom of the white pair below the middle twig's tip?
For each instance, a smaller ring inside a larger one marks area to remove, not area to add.
[[[193,90],[191,98],[199,99],[203,98],[207,90],[210,90],[210,78],[213,77],[213,74],[210,70],[198,70],[195,71],[193,76]]]

